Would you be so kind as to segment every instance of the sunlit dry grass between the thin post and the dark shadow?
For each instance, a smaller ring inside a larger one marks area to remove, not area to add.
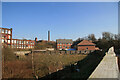
[[[85,57],[86,55],[34,54],[36,75],[43,77]]]

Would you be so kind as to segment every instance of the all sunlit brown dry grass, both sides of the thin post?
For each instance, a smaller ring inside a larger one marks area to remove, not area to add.
[[[4,49],[3,77],[4,78],[34,78],[35,75],[43,77],[47,74],[63,69],[64,66],[82,60],[86,55],[61,55],[61,54],[34,54],[34,68],[32,70],[32,56],[22,56],[19,59],[13,54],[12,49]]]

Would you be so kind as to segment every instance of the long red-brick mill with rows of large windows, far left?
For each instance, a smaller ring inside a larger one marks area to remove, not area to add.
[[[31,49],[35,46],[35,40],[12,39],[12,28],[0,28],[2,47],[9,46],[18,49]]]

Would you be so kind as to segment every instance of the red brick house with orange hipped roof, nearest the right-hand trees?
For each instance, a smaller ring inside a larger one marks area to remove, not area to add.
[[[83,40],[77,45],[78,51],[96,50],[95,44],[88,40]]]

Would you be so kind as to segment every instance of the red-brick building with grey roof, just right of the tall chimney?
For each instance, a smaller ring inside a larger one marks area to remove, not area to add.
[[[57,39],[56,44],[58,50],[67,50],[71,48],[73,41],[72,39]]]

